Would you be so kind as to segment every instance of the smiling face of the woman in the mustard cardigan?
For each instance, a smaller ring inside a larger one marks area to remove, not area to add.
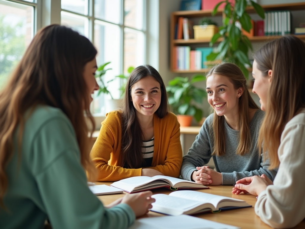
[[[161,103],[160,83],[151,76],[140,79],[131,87],[131,101],[137,117],[153,115]]]

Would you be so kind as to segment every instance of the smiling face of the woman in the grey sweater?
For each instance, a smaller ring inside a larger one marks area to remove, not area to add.
[[[208,102],[218,116],[236,115],[238,113],[241,88],[235,89],[227,76],[210,75],[206,79]]]

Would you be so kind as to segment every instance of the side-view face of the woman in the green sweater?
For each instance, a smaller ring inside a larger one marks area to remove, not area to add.
[[[97,64],[95,58],[91,61],[89,61],[87,64],[85,64],[84,67],[84,80],[87,85],[87,91],[88,95],[87,98],[89,100],[89,104],[93,100],[91,95],[94,93],[95,90],[99,89],[99,85],[97,84],[95,80],[95,71],[97,69]]]

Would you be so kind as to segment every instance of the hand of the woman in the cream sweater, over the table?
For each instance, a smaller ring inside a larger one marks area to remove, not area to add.
[[[238,195],[243,192],[258,196],[271,184],[273,182],[265,174],[261,176],[249,176],[236,181],[232,193]]]

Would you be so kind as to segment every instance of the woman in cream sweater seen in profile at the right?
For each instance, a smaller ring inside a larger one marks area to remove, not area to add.
[[[233,193],[257,195],[255,213],[274,228],[294,227],[305,218],[305,44],[285,36],[254,55],[253,92],[266,116],[258,144],[264,143],[270,168],[278,167],[272,183],[265,176],[237,181]]]

